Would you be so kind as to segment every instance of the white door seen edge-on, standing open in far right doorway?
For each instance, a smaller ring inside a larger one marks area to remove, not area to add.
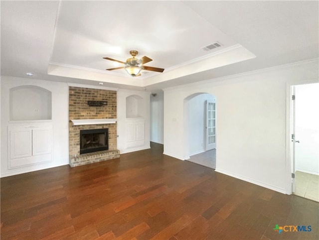
[[[296,144],[296,132],[295,132],[295,120],[296,118],[296,105],[295,105],[295,86],[292,86],[292,98],[291,98],[291,159],[292,159],[292,192],[296,192],[296,182],[295,182],[295,173],[296,173],[296,159],[295,159],[295,144]]]

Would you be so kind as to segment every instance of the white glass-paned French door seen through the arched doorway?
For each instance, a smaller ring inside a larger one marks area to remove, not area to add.
[[[206,101],[206,151],[216,148],[216,103]]]

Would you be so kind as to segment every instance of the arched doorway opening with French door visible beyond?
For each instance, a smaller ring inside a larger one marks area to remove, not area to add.
[[[196,93],[184,99],[185,159],[216,168],[216,96]]]

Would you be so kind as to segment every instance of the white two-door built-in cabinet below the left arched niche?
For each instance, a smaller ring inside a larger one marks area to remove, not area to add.
[[[8,126],[8,166],[16,168],[52,160],[52,123]]]

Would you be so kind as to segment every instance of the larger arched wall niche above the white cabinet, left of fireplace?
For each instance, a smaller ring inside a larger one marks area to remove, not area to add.
[[[9,90],[10,120],[52,120],[52,93],[25,85]]]

